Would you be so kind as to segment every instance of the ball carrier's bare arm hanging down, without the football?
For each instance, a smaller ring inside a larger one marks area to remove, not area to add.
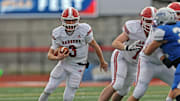
[[[92,46],[94,48],[94,50],[96,51],[96,54],[100,61],[100,70],[103,69],[106,72],[108,69],[108,64],[104,60],[101,48],[99,47],[99,45],[97,44],[97,42],[94,39],[89,43],[89,45]]]

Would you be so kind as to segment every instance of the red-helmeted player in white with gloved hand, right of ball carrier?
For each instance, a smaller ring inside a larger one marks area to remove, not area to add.
[[[136,79],[138,54],[146,40],[152,19],[156,12],[154,7],[141,11],[142,20],[127,21],[123,32],[113,41],[116,48],[111,57],[112,82],[102,92],[99,101],[121,101],[129,92]]]

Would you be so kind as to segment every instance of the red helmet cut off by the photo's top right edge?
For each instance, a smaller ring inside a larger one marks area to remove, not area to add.
[[[173,9],[177,14],[177,19],[180,20],[180,3],[172,2],[167,7]]]

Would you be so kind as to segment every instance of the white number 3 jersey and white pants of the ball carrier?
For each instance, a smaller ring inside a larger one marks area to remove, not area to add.
[[[85,65],[79,65],[79,63],[85,64],[87,62],[88,43],[93,40],[93,32],[90,25],[80,23],[72,35],[68,35],[65,27],[60,26],[53,30],[52,36],[51,48],[55,50],[59,46],[68,47],[70,54],[68,57],[60,60],[54,67],[44,92],[51,94],[66,79],[64,96],[68,98],[68,96],[74,96],[76,89],[79,88],[85,69]],[[68,88],[72,88],[73,91],[69,92]]]

